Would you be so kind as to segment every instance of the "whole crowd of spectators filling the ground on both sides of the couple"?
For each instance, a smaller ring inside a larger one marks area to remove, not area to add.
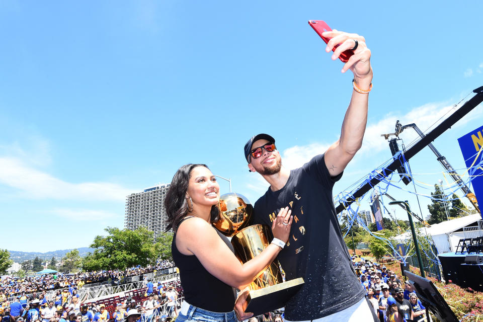
[[[401,282],[385,266],[369,260],[353,258],[355,272],[367,291],[367,298],[381,322],[416,322],[425,320],[425,307],[413,285]],[[99,271],[68,275],[50,275],[24,279],[5,278],[0,284],[0,322],[142,322],[169,321],[178,315],[183,290],[178,282],[169,284],[146,280],[142,298],[125,297],[106,308],[106,304],[82,303],[77,291],[84,285],[119,281],[125,277],[144,275],[174,267],[162,261],[154,267],[133,267],[125,271]],[[47,298],[46,290],[57,289]],[[35,293],[40,291],[40,293]],[[34,295],[35,294],[35,295]],[[15,296],[10,303],[8,298]],[[131,313],[129,311],[131,310]],[[249,322],[283,322],[280,312],[267,312]]]

